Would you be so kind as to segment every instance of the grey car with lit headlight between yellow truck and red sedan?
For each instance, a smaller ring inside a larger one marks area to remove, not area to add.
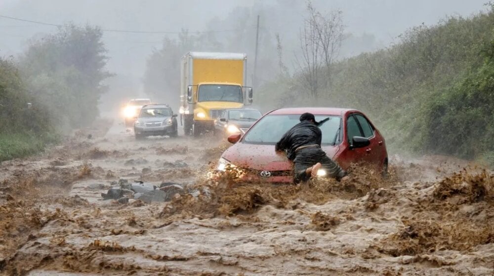
[[[216,119],[215,132],[224,133],[226,136],[232,134],[245,134],[247,130],[262,117],[262,113],[252,108],[225,109]]]

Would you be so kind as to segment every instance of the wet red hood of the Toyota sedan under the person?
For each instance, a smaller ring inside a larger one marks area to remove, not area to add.
[[[338,149],[338,146],[323,147],[330,158],[338,152]],[[292,163],[285,154],[276,154],[274,145],[237,143],[228,148],[221,157],[245,169],[287,171],[292,168]]]

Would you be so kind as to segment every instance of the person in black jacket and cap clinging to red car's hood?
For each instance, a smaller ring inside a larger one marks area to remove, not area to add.
[[[294,183],[309,180],[321,168],[326,170],[326,176],[338,181],[348,178],[347,173],[321,149],[322,132],[319,124],[313,114],[304,113],[300,116],[300,123],[276,143],[276,151],[286,150],[288,159],[295,165]]]

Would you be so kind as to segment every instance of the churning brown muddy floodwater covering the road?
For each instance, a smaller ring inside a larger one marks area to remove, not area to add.
[[[102,121],[40,156],[2,163],[0,273],[494,273],[492,172],[393,156],[385,180],[364,169],[345,184],[208,180],[226,146],[212,137],[135,141]],[[104,200],[121,179],[185,189],[169,202]]]

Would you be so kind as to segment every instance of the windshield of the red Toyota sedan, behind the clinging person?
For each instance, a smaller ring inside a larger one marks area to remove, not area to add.
[[[322,144],[332,144],[336,134],[336,144],[340,142],[341,117],[329,115],[315,115],[316,121],[321,121],[329,117],[329,121],[320,126],[323,133]],[[276,144],[282,136],[294,125],[300,122],[300,115],[267,115],[255,124],[247,132],[244,142],[252,144]]]

